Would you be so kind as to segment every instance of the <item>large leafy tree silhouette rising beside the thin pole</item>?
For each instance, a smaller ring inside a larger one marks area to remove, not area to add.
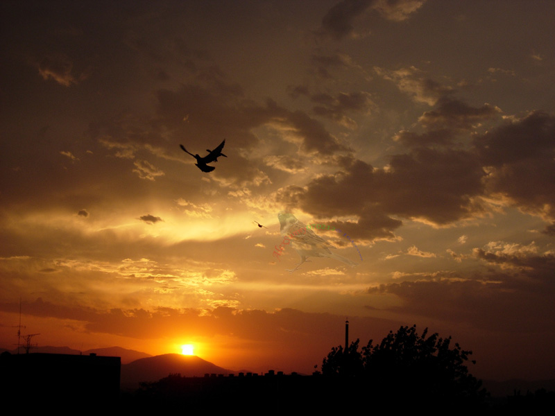
[[[324,358],[322,373],[356,377],[382,399],[429,399],[434,403],[478,404],[486,397],[481,381],[468,372],[471,351],[451,345],[451,337],[419,336],[416,325],[390,331],[381,343],[373,340],[358,351],[359,340],[347,353],[334,347]],[[471,361],[475,363],[475,361]]]

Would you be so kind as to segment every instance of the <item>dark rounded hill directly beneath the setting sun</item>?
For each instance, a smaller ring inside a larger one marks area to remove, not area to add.
[[[121,387],[139,388],[139,383],[142,381],[158,381],[169,374],[203,377],[206,373],[230,374],[233,371],[225,370],[198,356],[162,354],[121,365]]]

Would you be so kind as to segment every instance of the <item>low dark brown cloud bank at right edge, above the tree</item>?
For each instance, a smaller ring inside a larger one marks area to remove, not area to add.
[[[441,272],[418,277],[418,281],[381,284],[369,288],[368,293],[395,295],[402,301],[400,306],[386,307],[388,311],[451,324],[466,322],[473,327],[509,333],[543,332],[555,324],[555,317],[549,312],[551,292],[538,291],[536,285],[524,288],[507,275],[468,279]]]

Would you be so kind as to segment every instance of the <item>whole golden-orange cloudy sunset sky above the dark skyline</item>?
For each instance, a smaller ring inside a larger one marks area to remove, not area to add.
[[[555,2],[2,1],[0,347],[555,374]],[[212,173],[193,157],[225,139]],[[278,212],[351,268],[279,261]],[[267,227],[260,228],[254,221]],[[357,251],[357,248],[359,251]],[[360,256],[359,256],[360,252]],[[362,261],[361,261],[362,258]]]

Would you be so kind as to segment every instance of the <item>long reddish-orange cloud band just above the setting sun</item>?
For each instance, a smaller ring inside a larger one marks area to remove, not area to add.
[[[341,328],[345,320],[344,315],[306,313],[286,308],[264,311],[226,306],[209,309],[158,306],[152,309],[101,310],[80,305],[63,306],[40,297],[34,302],[24,302],[23,308],[26,314],[32,316],[78,321],[92,333],[110,333],[134,339],[177,338],[184,331],[196,337],[232,336],[236,340],[257,341],[255,348],[258,354],[259,340],[265,340],[270,349],[268,356],[274,358],[282,347],[298,351],[302,347],[309,348],[309,357],[314,359],[314,356],[320,356],[323,354],[322,346],[331,342],[329,328],[334,325]],[[0,303],[0,311],[16,313],[18,310],[19,302]],[[350,322],[358,328],[372,328],[372,331],[382,333],[398,326],[398,322],[378,318],[353,317]],[[300,362],[309,357],[303,356]]]

